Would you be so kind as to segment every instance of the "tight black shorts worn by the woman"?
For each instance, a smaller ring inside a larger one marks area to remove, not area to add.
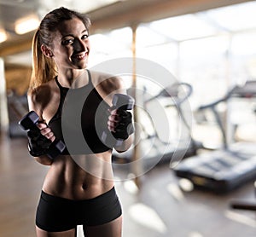
[[[121,215],[121,205],[114,188],[94,199],[85,200],[64,199],[42,191],[36,225],[48,232],[59,232],[77,225],[102,225]]]

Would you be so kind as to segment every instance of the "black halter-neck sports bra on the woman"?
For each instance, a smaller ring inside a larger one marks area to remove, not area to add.
[[[78,89],[62,87],[55,78],[61,98],[48,125],[56,139],[66,143],[67,148],[62,154],[102,153],[111,149],[100,139],[103,130],[108,130],[110,107],[93,86],[90,71],[87,72],[88,84]]]

